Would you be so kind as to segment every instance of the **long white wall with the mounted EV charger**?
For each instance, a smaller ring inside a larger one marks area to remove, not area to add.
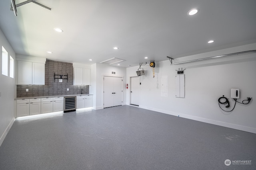
[[[244,45],[182,57],[174,60],[174,63],[255,49],[256,44]],[[131,76],[136,76],[138,67],[127,68],[127,82]],[[180,65],[170,65],[169,60],[162,61],[156,63],[155,78],[148,64],[142,67],[145,75],[140,76],[140,107],[256,133],[256,53]],[[185,98],[175,97],[175,75],[178,68],[186,68]],[[168,96],[161,97],[161,76],[165,75],[168,76]],[[239,102],[247,97],[252,97],[252,102],[248,105],[237,103],[231,112],[222,111],[218,106],[218,98],[222,95],[229,98],[231,108],[234,107],[235,102],[230,98],[231,88],[240,89]],[[126,94],[127,104],[130,104],[130,92],[127,90]]]

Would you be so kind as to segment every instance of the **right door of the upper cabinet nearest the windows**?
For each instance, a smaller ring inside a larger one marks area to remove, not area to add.
[[[32,63],[32,84],[44,85],[44,63]]]

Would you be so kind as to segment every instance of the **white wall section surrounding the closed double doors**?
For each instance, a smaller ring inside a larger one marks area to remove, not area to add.
[[[94,68],[96,65],[96,68]],[[102,109],[103,108],[103,82],[102,82],[102,75],[110,75],[110,76],[124,76],[124,86],[126,84],[126,68],[122,67],[117,67],[117,66],[111,66],[111,65],[106,65],[106,64],[93,64],[92,65],[92,70],[96,69],[96,72],[93,73],[95,74],[95,82],[94,83],[96,86],[92,87],[94,89],[94,99],[93,99],[93,105],[95,106],[94,109]],[[112,72],[116,72],[116,74],[112,74]],[[92,79],[91,79],[92,80]],[[92,81],[92,86],[93,86],[93,81]],[[125,89],[125,87],[124,87]],[[95,100],[95,101],[94,101]],[[95,103],[94,103],[95,102]],[[124,91],[124,104],[126,104],[126,93]]]

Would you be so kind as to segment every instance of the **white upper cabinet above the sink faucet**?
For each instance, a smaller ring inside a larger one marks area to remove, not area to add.
[[[90,65],[73,63],[74,85],[90,85]]]

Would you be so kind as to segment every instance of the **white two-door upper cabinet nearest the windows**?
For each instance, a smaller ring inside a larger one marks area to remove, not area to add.
[[[44,72],[46,59],[39,57],[16,57],[17,84],[44,85]]]

